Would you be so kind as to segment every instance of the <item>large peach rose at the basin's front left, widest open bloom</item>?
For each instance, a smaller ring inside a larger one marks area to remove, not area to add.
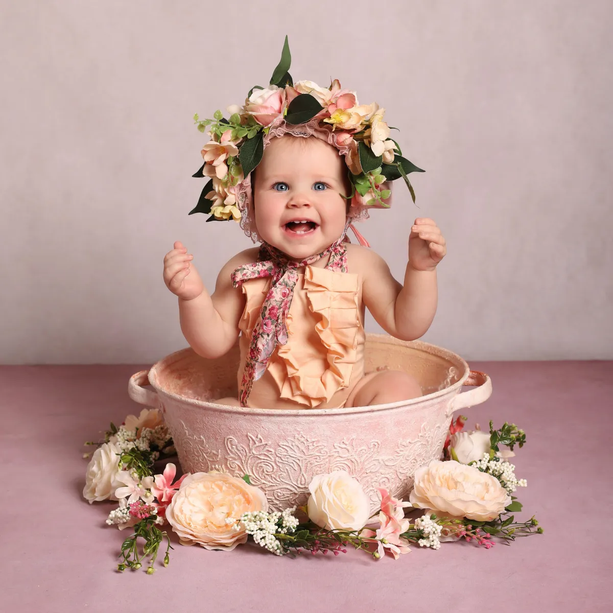
[[[187,476],[166,509],[166,519],[183,545],[205,549],[234,549],[245,543],[244,528],[237,530],[243,513],[268,511],[262,490],[226,473]]]

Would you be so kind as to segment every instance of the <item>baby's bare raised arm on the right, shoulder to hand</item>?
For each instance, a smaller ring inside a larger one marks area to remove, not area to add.
[[[446,253],[445,239],[432,219],[418,218],[409,235],[405,283],[394,279],[382,257],[365,251],[362,296],[375,321],[401,340],[422,337],[436,313],[436,265]]]

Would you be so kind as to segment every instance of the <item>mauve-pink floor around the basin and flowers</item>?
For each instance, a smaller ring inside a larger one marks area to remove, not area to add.
[[[4,522],[2,611],[613,610],[613,362],[472,362],[493,395],[465,409],[472,429],[515,422],[527,433],[516,474],[526,519],[544,535],[490,550],[473,543],[413,550],[394,562],[365,554],[295,559],[257,547],[182,547],[169,568],[116,573],[128,531],[112,505],[82,498],[85,440],[140,406],[128,378],[142,367],[0,367]],[[600,524],[600,526],[599,526]],[[608,604],[607,604],[608,603]]]

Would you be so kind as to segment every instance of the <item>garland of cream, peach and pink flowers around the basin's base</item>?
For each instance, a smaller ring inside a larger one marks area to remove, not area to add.
[[[120,530],[132,528],[121,546],[119,571],[139,569],[147,560],[153,574],[159,548],[166,541],[163,565],[173,549],[166,531],[169,525],[181,544],[205,549],[232,550],[249,538],[276,555],[310,553],[339,555],[348,547],[364,550],[376,560],[389,552],[395,559],[411,544],[439,549],[446,541],[474,541],[485,549],[518,536],[542,534],[535,517],[515,522],[522,509],[514,493],[527,485],[517,479],[515,466],[506,461],[525,433],[504,422],[490,432],[478,425],[463,431],[465,417],[452,420],[441,460],[417,469],[408,501],[397,500],[378,488],[381,507],[370,515],[368,500],[359,482],[346,471],[319,474],[309,485],[305,506],[270,512],[264,493],[248,475],[218,471],[185,474],[175,480],[170,462],[154,474],[154,462],[173,455],[170,433],[158,409],[129,415],[117,428],[111,424],[104,442],[97,446],[86,470],[83,497],[115,500],[106,523]],[[500,446],[509,449],[500,449]],[[89,457],[89,454],[85,454]],[[405,517],[405,509],[424,509],[420,517]],[[139,547],[139,539],[144,541]]]

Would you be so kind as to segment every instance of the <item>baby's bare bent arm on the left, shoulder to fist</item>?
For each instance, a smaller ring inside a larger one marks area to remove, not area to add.
[[[177,242],[164,259],[164,281],[179,299],[181,332],[200,356],[223,356],[238,338],[238,321],[245,307],[242,291],[232,286],[230,275],[240,265],[253,262],[257,250],[247,249],[227,262],[213,295],[208,294],[186,251]]]

